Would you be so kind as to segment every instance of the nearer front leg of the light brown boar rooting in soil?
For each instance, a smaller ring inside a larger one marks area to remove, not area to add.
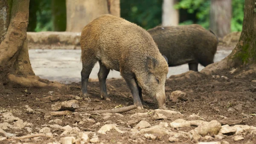
[[[137,107],[137,109],[143,109],[143,105],[140,101],[140,95],[139,95],[139,89],[136,82],[136,79],[131,76],[132,74],[122,74],[122,77],[125,79],[127,85],[131,89],[131,93],[134,97],[134,105]]]

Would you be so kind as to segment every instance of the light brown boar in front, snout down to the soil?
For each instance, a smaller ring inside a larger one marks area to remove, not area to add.
[[[168,64],[151,35],[140,26],[120,17],[104,14],[81,33],[81,95],[90,101],[87,81],[94,64],[99,62],[100,96],[109,100],[106,78],[111,70],[119,71],[125,79],[138,109],[145,107],[142,89],[166,108],[165,81]]]

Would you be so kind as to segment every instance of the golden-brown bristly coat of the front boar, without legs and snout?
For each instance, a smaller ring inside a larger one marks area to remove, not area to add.
[[[119,71],[122,76],[133,74],[149,95],[164,89],[168,64],[151,35],[140,26],[104,14],[84,27],[80,43],[83,67],[100,61],[107,69]],[[156,60],[151,71],[146,65],[147,58]],[[154,84],[150,74],[159,78],[161,84]]]

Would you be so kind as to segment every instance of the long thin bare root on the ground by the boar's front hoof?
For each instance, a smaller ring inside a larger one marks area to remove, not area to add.
[[[128,112],[130,110],[136,109],[137,107],[134,105],[128,106],[128,107],[120,107],[115,109],[105,109],[105,110],[95,110],[95,111],[87,111],[87,112],[80,112],[81,114],[89,113],[92,115],[98,115],[102,113],[123,113]]]

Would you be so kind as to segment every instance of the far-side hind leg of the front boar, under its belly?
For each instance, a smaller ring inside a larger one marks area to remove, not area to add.
[[[106,99],[107,101],[110,101],[110,98],[108,98],[108,93],[107,93],[107,87],[106,87],[106,79],[108,77],[110,69],[107,69],[106,66],[104,66],[100,61],[99,61],[99,86],[100,86],[100,97],[102,99]]]

